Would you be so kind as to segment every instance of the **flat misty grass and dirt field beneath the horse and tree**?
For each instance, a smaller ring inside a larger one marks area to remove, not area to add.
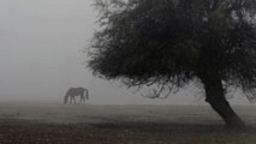
[[[234,106],[256,127],[256,106]],[[0,103],[0,144],[255,144],[209,106]]]

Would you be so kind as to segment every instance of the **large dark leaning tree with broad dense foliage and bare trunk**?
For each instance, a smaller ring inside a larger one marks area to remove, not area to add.
[[[101,28],[88,52],[94,75],[170,90],[197,80],[227,127],[244,126],[222,82],[255,97],[255,0],[96,0],[95,6]]]

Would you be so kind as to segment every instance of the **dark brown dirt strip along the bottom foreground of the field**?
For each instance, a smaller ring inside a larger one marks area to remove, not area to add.
[[[54,124],[0,119],[0,144],[255,144],[256,131],[168,123]]]

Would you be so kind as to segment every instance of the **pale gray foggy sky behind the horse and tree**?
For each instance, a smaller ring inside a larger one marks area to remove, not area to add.
[[[89,89],[90,104],[198,104],[187,92],[152,100],[93,77],[80,63],[97,28],[93,0],[0,1],[0,101],[62,102],[69,87]]]

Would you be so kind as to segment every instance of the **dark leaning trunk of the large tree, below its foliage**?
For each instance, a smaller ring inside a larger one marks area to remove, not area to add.
[[[233,111],[224,95],[221,79],[217,76],[201,78],[206,91],[206,102],[221,116],[227,129],[242,129],[244,122]]]

